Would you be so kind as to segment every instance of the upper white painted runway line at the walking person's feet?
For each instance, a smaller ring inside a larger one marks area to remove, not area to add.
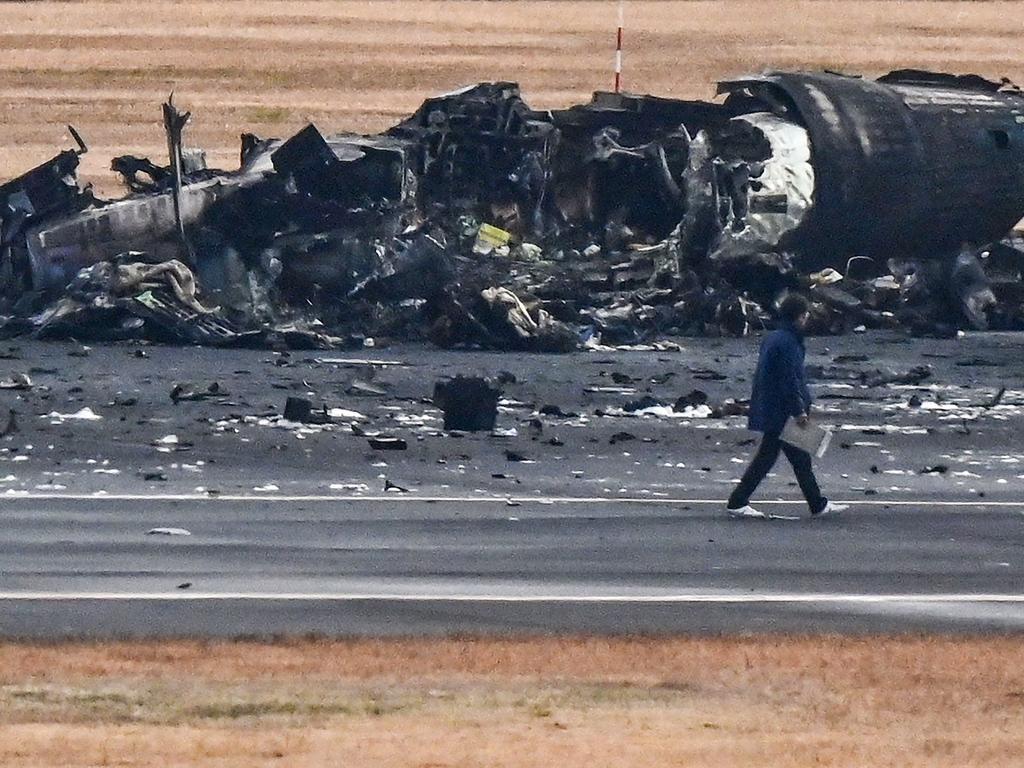
[[[650,499],[648,497],[555,497],[555,496],[324,496],[324,495],[287,495],[287,494],[217,494],[214,496],[199,494],[0,494],[0,506],[22,501],[88,501],[88,502],[263,502],[269,504],[357,504],[359,502],[391,502],[394,504],[634,504],[646,506],[669,506],[692,504],[697,506],[725,507],[725,499]],[[944,509],[968,508],[984,509],[999,507],[1007,509],[1024,509],[1021,501],[942,501],[926,499],[834,499],[838,504],[849,504],[857,507],[939,507]],[[804,507],[802,499],[764,499],[755,502],[758,506],[797,506]]]

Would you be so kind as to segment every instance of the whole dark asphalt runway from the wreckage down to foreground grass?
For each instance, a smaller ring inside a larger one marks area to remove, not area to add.
[[[17,425],[0,438],[0,635],[1024,629],[1024,337],[809,340],[837,427],[819,479],[853,508],[771,523],[722,512],[753,450],[742,417],[622,410],[748,395],[757,339],[679,341],[566,356],[7,342],[0,380],[33,388],[0,389]],[[868,381],[922,365],[918,385]],[[433,382],[500,371],[516,381],[498,432],[444,433]],[[168,396],[214,381],[217,397]],[[289,424],[289,394],[356,415]],[[98,418],[67,418],[83,408]],[[760,498],[803,515],[798,493],[782,463]]]

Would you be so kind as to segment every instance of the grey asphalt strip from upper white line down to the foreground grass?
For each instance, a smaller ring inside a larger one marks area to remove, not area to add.
[[[38,496],[3,500],[6,637],[1024,629],[1013,501]]]

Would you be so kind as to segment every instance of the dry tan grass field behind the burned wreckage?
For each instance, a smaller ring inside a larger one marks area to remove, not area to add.
[[[237,164],[238,134],[313,120],[378,130],[428,94],[518,80],[539,106],[610,85],[614,0],[0,3],[0,177],[68,144],[117,187],[114,155],[163,154],[159,102],[194,110],[191,140]],[[711,97],[717,78],[780,68],[924,67],[1024,81],[1020,2],[630,0],[626,85]]]

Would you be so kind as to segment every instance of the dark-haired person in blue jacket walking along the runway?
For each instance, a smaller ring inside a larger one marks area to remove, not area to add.
[[[762,433],[761,444],[729,496],[727,511],[730,517],[768,517],[751,506],[751,496],[775,465],[779,451],[793,465],[812,516],[835,514],[847,508],[821,495],[811,468],[811,455],[780,438],[791,417],[801,427],[810,423],[811,393],[804,380],[803,333],[810,316],[810,304],[803,296],[790,294],[782,300],[778,313],[781,318],[778,330],[768,334],[761,343],[751,394],[748,427]]]

